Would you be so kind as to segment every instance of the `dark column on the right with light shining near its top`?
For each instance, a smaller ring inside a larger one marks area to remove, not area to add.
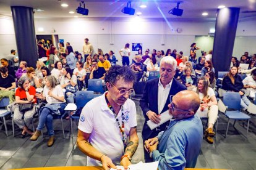
[[[218,71],[228,71],[233,54],[234,40],[239,17],[239,8],[229,7],[217,12],[213,43],[213,66]]]

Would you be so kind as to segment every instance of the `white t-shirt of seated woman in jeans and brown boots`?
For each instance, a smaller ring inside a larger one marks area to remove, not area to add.
[[[45,96],[46,98],[46,102],[49,103],[49,104],[57,104],[57,103],[63,103],[53,97],[50,97],[48,95],[48,92],[49,92],[49,87],[45,86],[43,87],[43,96]],[[54,87],[53,89],[53,94],[54,95],[58,95],[59,97],[63,97],[64,96],[64,92],[62,91],[62,88],[61,86],[57,85],[56,87]]]

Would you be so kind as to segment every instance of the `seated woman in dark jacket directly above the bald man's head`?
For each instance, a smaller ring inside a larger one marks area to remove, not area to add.
[[[197,86],[197,76],[192,75],[191,67],[186,66],[184,73],[181,75],[182,84],[184,84],[188,90],[194,89]]]

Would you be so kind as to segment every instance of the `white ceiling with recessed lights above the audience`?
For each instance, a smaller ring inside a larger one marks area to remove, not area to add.
[[[128,1],[128,0],[127,0]],[[35,12],[35,18],[73,18],[75,15],[86,18],[120,18],[130,17],[122,14],[121,9],[126,6],[124,0],[85,0],[85,7],[89,9],[88,16],[80,14],[69,14],[69,11],[75,11],[79,6],[78,0],[0,0],[0,15],[11,16],[10,6],[28,6],[34,9],[42,9],[44,12]],[[182,17],[168,14],[170,9],[176,6],[177,1],[158,1],[158,0],[134,0],[132,8],[136,12],[142,12],[142,18],[183,18],[213,20],[216,18],[216,10],[220,5],[226,7],[240,7],[240,19],[256,18],[255,13],[243,13],[245,10],[256,10],[256,0],[183,0],[179,8],[184,9]],[[66,3],[68,7],[61,7]],[[147,5],[142,9],[141,4]],[[161,13],[161,12],[162,13]],[[208,16],[202,16],[202,12],[208,12]]]

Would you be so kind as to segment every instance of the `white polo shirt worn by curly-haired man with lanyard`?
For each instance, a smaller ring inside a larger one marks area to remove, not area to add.
[[[129,137],[130,127],[137,126],[135,103],[127,99],[117,115],[122,126],[124,113],[124,137]],[[105,94],[96,97],[83,107],[80,115],[80,131],[90,134],[89,142],[96,150],[108,155],[114,164],[119,164],[124,154],[122,134],[113,112],[108,108]],[[129,141],[129,139],[127,139]],[[87,166],[102,166],[101,162],[87,156]]]

